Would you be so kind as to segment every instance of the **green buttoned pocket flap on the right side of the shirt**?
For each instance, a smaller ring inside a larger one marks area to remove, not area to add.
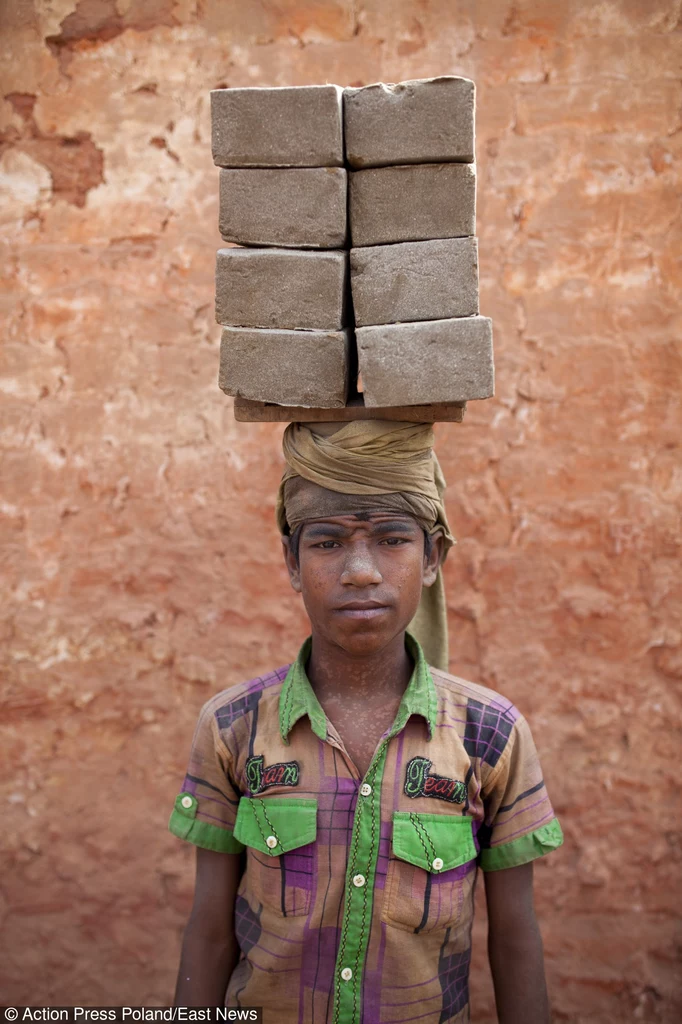
[[[393,812],[393,853],[426,871],[447,871],[476,859],[469,814]]]

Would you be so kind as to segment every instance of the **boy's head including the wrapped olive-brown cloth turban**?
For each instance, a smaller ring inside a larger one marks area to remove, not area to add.
[[[410,627],[446,668],[439,566],[453,538],[432,443],[429,426],[410,423],[285,432],[278,521],[292,586],[313,635],[348,653],[381,650]]]

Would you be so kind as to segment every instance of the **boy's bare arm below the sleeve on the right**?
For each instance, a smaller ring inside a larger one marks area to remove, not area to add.
[[[499,1024],[549,1024],[532,862],[485,873],[487,954]]]

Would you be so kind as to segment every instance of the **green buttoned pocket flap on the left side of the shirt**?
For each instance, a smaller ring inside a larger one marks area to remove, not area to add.
[[[317,801],[302,797],[242,797],[235,839],[270,857],[314,843]]]

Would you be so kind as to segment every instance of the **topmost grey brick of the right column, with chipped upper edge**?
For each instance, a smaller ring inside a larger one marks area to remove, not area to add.
[[[355,168],[471,163],[474,110],[475,88],[468,78],[345,89],[346,162]]]

